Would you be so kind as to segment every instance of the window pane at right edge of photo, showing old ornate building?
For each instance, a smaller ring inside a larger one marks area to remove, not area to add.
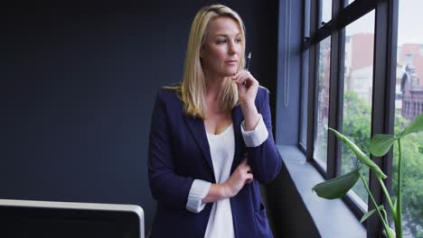
[[[423,112],[423,21],[421,0],[399,1],[395,133]],[[423,237],[423,133],[401,140],[404,237]],[[393,152],[393,195],[398,190],[398,146]],[[407,188],[405,188],[406,186]],[[395,196],[394,196],[395,197]]]

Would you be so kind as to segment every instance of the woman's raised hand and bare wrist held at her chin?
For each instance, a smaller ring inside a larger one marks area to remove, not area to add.
[[[245,118],[245,130],[252,131],[256,128],[260,119],[255,105],[258,81],[245,69],[240,70],[231,78],[238,86],[238,97]]]

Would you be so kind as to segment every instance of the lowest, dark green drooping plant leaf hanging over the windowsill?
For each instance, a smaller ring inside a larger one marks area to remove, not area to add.
[[[345,194],[353,188],[354,184],[360,178],[360,169],[354,169],[353,171],[344,174],[340,177],[332,178],[315,185],[312,190],[315,191],[317,196],[324,197],[326,199],[336,199],[345,196]]]

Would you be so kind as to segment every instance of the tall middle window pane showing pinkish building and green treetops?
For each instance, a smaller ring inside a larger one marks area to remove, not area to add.
[[[345,29],[345,70],[343,81],[343,134],[366,154],[371,137],[371,93],[373,78],[374,11]],[[352,151],[342,145],[342,174],[360,166]],[[369,169],[362,170],[369,179]],[[367,192],[359,181],[353,192],[367,204]],[[366,206],[362,206],[364,210]]]

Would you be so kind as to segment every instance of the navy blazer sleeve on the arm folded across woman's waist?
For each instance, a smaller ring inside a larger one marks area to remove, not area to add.
[[[174,155],[166,103],[160,92],[155,99],[148,148],[148,180],[153,197],[166,206],[186,209],[193,178],[174,172]]]

